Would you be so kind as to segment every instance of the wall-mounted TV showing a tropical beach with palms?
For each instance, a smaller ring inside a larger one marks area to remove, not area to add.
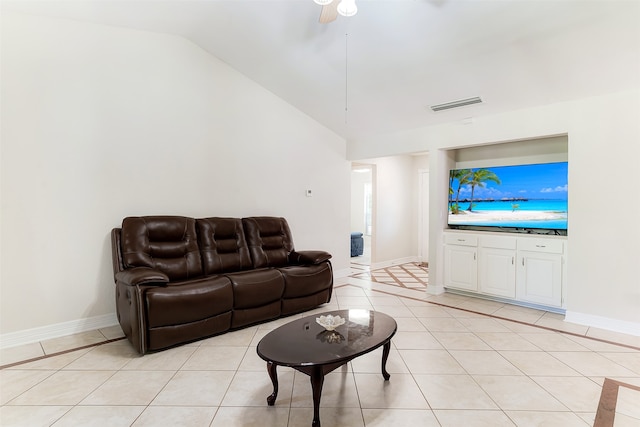
[[[566,235],[567,166],[449,171],[449,228]]]

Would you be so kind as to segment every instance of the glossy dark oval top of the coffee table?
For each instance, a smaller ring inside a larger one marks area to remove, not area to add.
[[[346,320],[327,331],[316,318],[331,314]],[[274,329],[258,343],[258,355],[281,366],[325,365],[350,360],[388,342],[396,333],[392,317],[375,311],[351,309],[319,313]]]

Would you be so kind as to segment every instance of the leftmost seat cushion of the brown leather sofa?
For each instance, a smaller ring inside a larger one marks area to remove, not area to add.
[[[212,276],[150,288],[145,303],[150,328],[181,325],[231,312],[233,290],[228,278]]]

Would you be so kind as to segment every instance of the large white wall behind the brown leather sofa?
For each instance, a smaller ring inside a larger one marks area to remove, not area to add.
[[[3,336],[115,319],[128,215],[284,216],[348,269],[344,140],[191,42],[4,13],[1,54]]]

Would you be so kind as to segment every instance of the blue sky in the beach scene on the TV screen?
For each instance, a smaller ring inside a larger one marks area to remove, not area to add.
[[[567,163],[488,167],[501,181],[476,186],[474,199],[522,197],[529,199],[567,199]],[[474,168],[476,170],[477,168]],[[458,180],[453,182],[454,198]],[[471,186],[460,190],[460,199],[471,196]]]

